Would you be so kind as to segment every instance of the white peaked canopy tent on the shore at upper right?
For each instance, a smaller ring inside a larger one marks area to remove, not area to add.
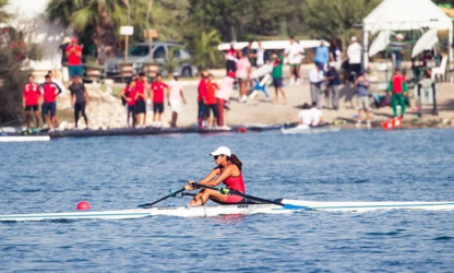
[[[449,31],[449,56],[453,58],[453,22],[431,0],[383,0],[362,20],[365,60],[369,34],[378,32],[411,31],[428,27]]]

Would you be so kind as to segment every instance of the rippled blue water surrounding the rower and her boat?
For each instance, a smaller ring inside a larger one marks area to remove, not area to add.
[[[201,179],[218,145],[243,162],[250,194],[454,201],[453,144],[454,130],[0,144],[0,212],[134,207]],[[0,223],[0,271],[454,272],[454,212]]]

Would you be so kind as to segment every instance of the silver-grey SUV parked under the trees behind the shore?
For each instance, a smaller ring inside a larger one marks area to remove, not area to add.
[[[194,76],[198,73],[195,66],[191,64],[191,55],[182,48],[182,45],[169,41],[154,41],[152,46],[153,62],[159,67],[163,76],[168,75],[168,71],[163,69],[166,55],[175,48],[175,58],[180,62],[175,72],[181,76]],[[106,61],[106,73],[108,78],[120,76],[118,63],[124,61],[124,54],[110,58]],[[141,43],[131,47],[128,54],[128,61],[133,63],[134,73],[142,71],[142,63],[150,62],[148,43]]]

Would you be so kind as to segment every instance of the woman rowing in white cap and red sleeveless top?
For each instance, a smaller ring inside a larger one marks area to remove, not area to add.
[[[229,190],[236,190],[244,193],[244,181],[242,179],[241,166],[242,163],[235,154],[231,154],[230,149],[220,146],[210,155],[214,156],[214,162],[217,165],[205,178],[199,183],[211,187],[216,187],[224,182]],[[194,190],[194,180],[190,180],[184,186],[186,190]],[[189,202],[190,205],[203,205],[208,199],[222,204],[238,204],[242,203],[243,198],[235,194],[223,194],[219,191],[203,189]]]

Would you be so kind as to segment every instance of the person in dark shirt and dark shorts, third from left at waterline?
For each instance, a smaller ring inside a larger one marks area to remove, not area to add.
[[[72,76],[72,83],[69,87],[71,91],[71,105],[74,106],[74,127],[77,128],[79,115],[85,120],[85,128],[88,128],[88,118],[85,114],[85,107],[88,105],[89,96],[80,75]]]

